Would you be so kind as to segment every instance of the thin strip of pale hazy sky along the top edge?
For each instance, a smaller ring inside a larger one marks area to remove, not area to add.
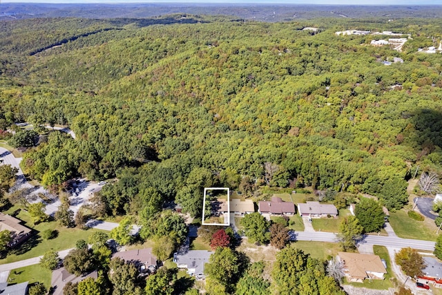
[[[442,0],[0,0],[32,3],[266,3],[336,5],[442,5]]]

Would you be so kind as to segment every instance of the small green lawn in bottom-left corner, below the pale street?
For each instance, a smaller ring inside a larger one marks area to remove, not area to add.
[[[40,265],[30,265],[12,270],[8,277],[8,283],[18,284],[29,282],[32,284],[39,282],[43,283],[46,288],[49,288],[51,278],[52,272],[48,271],[48,269]]]

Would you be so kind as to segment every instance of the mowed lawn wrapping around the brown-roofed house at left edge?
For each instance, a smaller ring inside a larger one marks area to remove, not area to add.
[[[17,207],[12,207],[5,213],[12,213],[16,209]],[[0,259],[0,264],[13,263],[15,261],[41,256],[50,249],[60,251],[74,248],[77,240],[83,239],[87,241],[91,234],[100,231],[98,229],[68,229],[66,227],[61,227],[56,221],[41,222],[34,226],[28,213],[23,210],[21,210],[15,217],[23,220],[22,224],[34,229],[34,231],[32,231],[32,236],[29,240],[24,242],[19,248],[11,250],[6,258]],[[46,229],[52,231],[56,230],[58,232],[57,237],[50,240],[43,240],[39,233]]]

